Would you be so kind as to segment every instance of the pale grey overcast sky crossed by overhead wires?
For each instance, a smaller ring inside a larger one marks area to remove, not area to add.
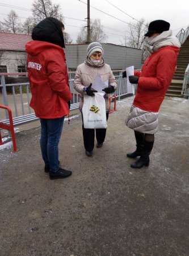
[[[87,3],[87,0],[81,0]],[[84,20],[87,17],[87,5],[79,0],[52,0],[53,3],[59,3],[61,6],[62,14],[67,17],[65,18],[65,28],[73,39],[73,42],[77,39],[77,34],[80,31],[79,27],[86,26]],[[108,3],[109,2],[109,3]],[[7,18],[10,10],[15,10],[16,13],[24,20],[31,15],[30,11],[19,10],[12,6],[18,6],[25,9],[31,9],[33,0],[0,0],[0,20]],[[128,15],[124,14],[120,10],[123,10]],[[5,5],[12,5],[10,7],[5,7]],[[174,34],[184,28],[186,29],[189,25],[189,1],[188,0],[135,0],[135,1],[125,1],[125,0],[90,0],[90,18],[99,18],[104,27],[104,31],[108,35],[107,42],[114,44],[121,44],[124,42],[124,31],[128,30],[127,23],[135,22],[141,18],[144,18],[146,22],[150,22],[155,19],[164,19],[170,22],[171,29]],[[123,20],[124,22],[112,18],[102,12],[95,10],[99,9],[104,13],[115,16],[117,19]],[[135,19],[132,19],[131,16]],[[79,20],[77,20],[79,19]],[[80,20],[81,19],[81,20]],[[109,27],[109,28],[107,28]],[[111,28],[111,29],[110,29]],[[117,30],[117,31],[115,31]],[[123,31],[123,32],[120,32]]]

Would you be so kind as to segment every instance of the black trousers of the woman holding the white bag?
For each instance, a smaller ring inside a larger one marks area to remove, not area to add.
[[[109,113],[106,113],[106,120],[108,120]],[[83,127],[83,114],[82,114],[82,130],[83,130],[83,142],[86,151],[93,151],[94,139],[96,131],[96,141],[103,143],[106,137],[106,129],[86,129]]]

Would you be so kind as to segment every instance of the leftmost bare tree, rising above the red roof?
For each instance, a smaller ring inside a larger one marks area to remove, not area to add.
[[[3,32],[19,33],[21,24],[19,22],[18,14],[14,10],[11,10],[8,18],[1,22],[1,28]]]

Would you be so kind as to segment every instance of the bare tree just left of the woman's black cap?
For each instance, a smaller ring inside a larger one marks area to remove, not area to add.
[[[142,49],[142,60],[148,57],[149,53],[146,51],[146,42],[144,34],[148,30],[148,23],[145,24],[145,19],[142,18],[136,23],[129,23],[129,34],[125,36],[125,46]]]

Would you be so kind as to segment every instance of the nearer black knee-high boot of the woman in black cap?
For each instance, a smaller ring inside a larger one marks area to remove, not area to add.
[[[142,166],[149,166],[150,163],[150,152],[152,151],[154,141],[144,141],[144,147],[142,150],[141,157],[137,162],[131,164],[132,168],[141,168]]]

